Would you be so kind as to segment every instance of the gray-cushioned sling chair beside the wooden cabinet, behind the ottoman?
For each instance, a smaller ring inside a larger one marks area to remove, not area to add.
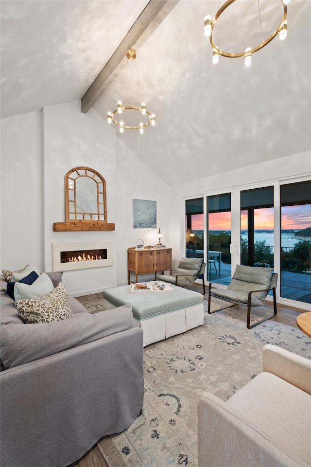
[[[177,269],[172,269],[170,274],[164,274],[166,271],[155,271],[155,280],[170,282],[178,287],[189,287],[202,274],[203,294],[205,294],[205,267],[202,258],[181,258]]]

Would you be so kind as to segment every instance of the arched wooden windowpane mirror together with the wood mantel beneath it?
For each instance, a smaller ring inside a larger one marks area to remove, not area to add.
[[[114,230],[107,222],[106,181],[97,170],[74,167],[65,175],[66,222],[53,230]]]

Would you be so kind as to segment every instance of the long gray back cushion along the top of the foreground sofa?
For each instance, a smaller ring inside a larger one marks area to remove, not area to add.
[[[76,313],[71,320],[0,326],[1,359],[5,369],[53,355],[133,327],[132,307],[90,314]]]

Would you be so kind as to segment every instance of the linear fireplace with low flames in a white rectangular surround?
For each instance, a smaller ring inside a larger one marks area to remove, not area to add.
[[[53,271],[112,266],[111,242],[66,242],[52,244]]]

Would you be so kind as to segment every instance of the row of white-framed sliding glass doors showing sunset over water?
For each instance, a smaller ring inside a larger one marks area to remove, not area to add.
[[[185,203],[185,255],[204,258],[208,281],[229,281],[236,264],[273,268],[277,300],[311,303],[310,180],[237,187]]]

